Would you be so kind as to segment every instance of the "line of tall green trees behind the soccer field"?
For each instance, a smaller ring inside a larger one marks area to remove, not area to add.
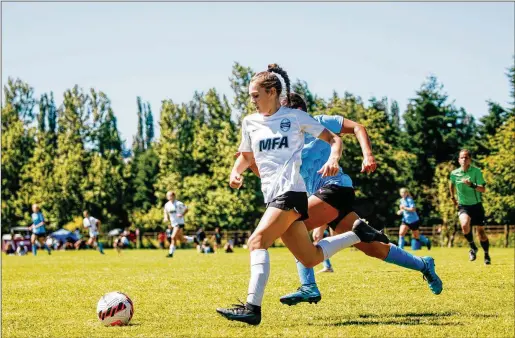
[[[479,121],[457,107],[434,76],[425,79],[404,112],[386,97],[365,102],[350,92],[334,92],[321,98],[301,80],[292,90],[306,98],[311,114],[342,115],[367,128],[376,172],[359,173],[361,149],[353,136],[343,137],[341,160],[365,218],[397,224],[398,189],[405,186],[425,224],[456,222],[447,184],[459,150],[468,148],[487,181],[489,221],[514,224],[514,67],[507,71],[512,101],[506,106],[488,101]],[[189,227],[254,227],[264,210],[259,180],[248,172],[242,189],[227,183],[241,120],[253,112],[248,95],[253,73],[234,64],[231,101],[214,88],[195,92],[189,102],[163,100],[157,138],[151,106],[137,97],[137,133],[130,147],[105,93],[75,86],[57,106],[53,93],[36,97],[29,84],[9,78],[2,105],[2,230],[30,224],[33,203],[41,205],[51,228],[79,224],[83,209],[101,218],[104,230],[156,228],[163,226],[167,190],[177,191],[189,206]]]

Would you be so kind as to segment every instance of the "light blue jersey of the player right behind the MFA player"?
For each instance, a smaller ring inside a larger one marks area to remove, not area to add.
[[[326,129],[335,134],[339,134],[342,130],[343,117],[341,116],[317,115],[313,117]],[[327,162],[330,155],[331,146],[327,142],[317,139],[310,134],[304,134],[300,174],[306,184],[308,195],[314,194],[318,189],[329,184],[352,188],[352,180],[343,173],[342,168],[339,169],[336,176],[322,177],[321,174],[317,173]]]

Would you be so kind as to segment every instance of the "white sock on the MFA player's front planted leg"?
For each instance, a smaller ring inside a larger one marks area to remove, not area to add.
[[[266,283],[270,275],[270,256],[265,249],[254,250],[250,253],[250,281],[247,303],[261,306]]]

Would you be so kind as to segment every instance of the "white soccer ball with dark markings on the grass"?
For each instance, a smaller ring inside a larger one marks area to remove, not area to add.
[[[132,300],[123,292],[106,293],[98,301],[97,316],[105,326],[127,325],[133,314]]]

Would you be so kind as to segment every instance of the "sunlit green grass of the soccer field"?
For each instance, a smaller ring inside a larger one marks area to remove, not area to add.
[[[333,274],[317,275],[322,301],[288,307],[279,297],[298,286],[295,264],[271,249],[272,272],[258,327],[229,322],[215,308],[245,300],[249,255],[178,250],[56,252],[2,256],[2,337],[513,337],[513,249],[433,249],[444,282],[433,295],[418,272],[358,251],[336,255]],[[426,254],[427,251],[419,251]],[[135,304],[130,326],[103,327],[95,310],[109,291]]]

